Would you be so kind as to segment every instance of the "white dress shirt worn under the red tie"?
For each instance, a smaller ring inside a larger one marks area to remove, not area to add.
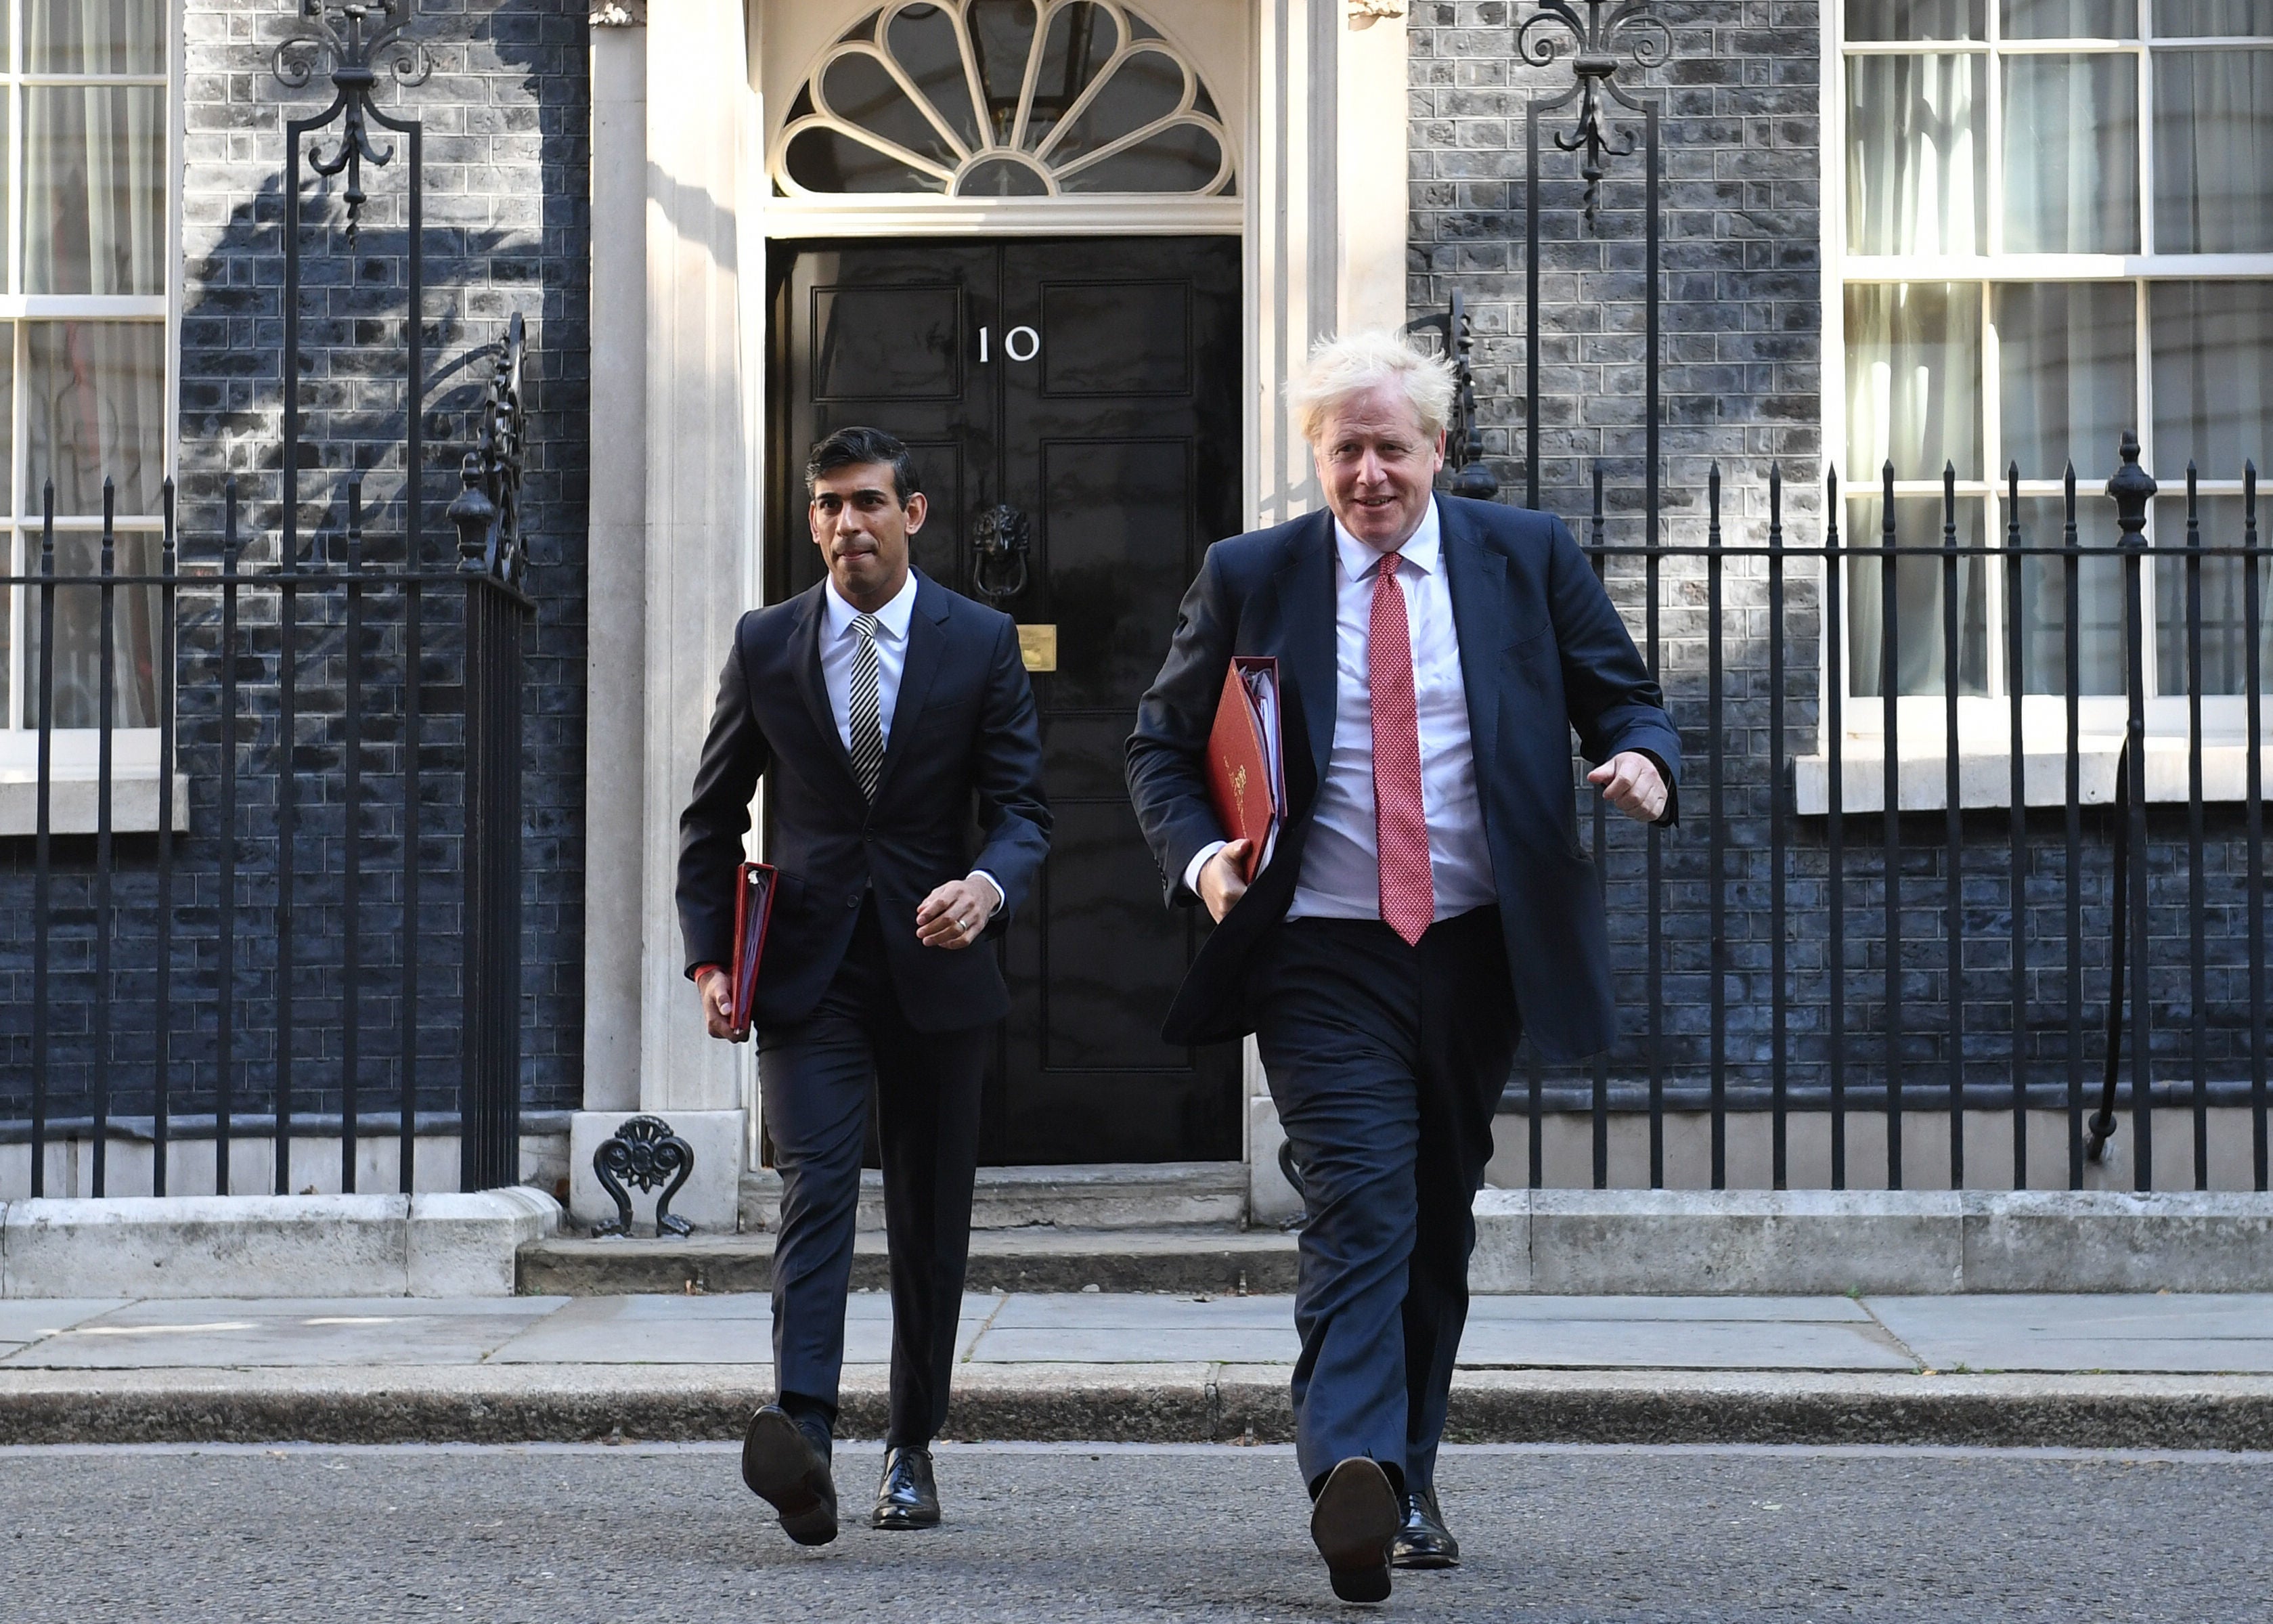
[[[1421,730],[1421,807],[1427,817],[1430,883],[1437,919],[1500,898],[1475,798],[1468,744],[1468,689],[1459,666],[1452,589],[1443,575],[1443,525],[1430,500],[1421,528],[1398,548],[1398,591],[1412,635],[1414,714]],[[1373,630],[1375,569],[1382,555],[1334,521],[1334,751],[1318,785],[1302,873],[1289,919],[1380,919],[1382,862],[1373,817],[1373,694],[1366,644]],[[1198,889],[1207,846],[1184,871]]]

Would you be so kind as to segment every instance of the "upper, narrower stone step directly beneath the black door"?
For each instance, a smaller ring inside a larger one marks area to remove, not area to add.
[[[773,1233],[782,1176],[741,1176],[743,1233]],[[1080,1167],[982,1167],[971,1228],[1239,1228],[1248,1217],[1246,1162],[1089,1162]],[[884,1176],[861,1174],[859,1226],[884,1228]]]

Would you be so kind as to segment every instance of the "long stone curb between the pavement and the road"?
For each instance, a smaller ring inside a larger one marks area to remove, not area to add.
[[[884,1372],[846,1374],[880,1437]],[[764,1365],[368,1372],[7,1372],[0,1444],[734,1440]],[[1225,1365],[957,1374],[955,1440],[1287,1442],[1287,1372]],[[1462,1372],[1452,1442],[2273,1449],[2273,1376]]]

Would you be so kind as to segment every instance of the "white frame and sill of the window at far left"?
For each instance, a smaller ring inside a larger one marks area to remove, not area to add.
[[[34,75],[16,73],[14,50],[23,41],[25,0],[5,0],[9,41],[0,41],[0,105],[7,118],[7,152],[14,166],[7,180],[7,266],[0,275],[0,321],[9,323],[14,343],[14,391],[9,412],[9,489],[14,512],[0,514],[0,546],[11,548],[16,573],[39,573],[41,516],[39,505],[27,498],[27,434],[25,423],[25,328],[32,321],[148,321],[164,325],[166,380],[161,389],[164,412],[164,469],[173,473],[180,455],[182,419],[182,141],[184,141],[184,96],[182,96],[182,9],[166,7],[166,66],[164,73],[64,73]],[[134,296],[82,296],[82,293],[25,293],[23,277],[23,209],[30,164],[23,150],[25,96],[23,86],[36,84],[145,84],[166,91],[166,289],[161,293]],[[130,514],[114,523],[118,535],[159,535],[159,514]],[[57,537],[66,532],[98,535],[100,514],[57,516]],[[27,616],[36,614],[36,591],[18,589],[7,605],[7,678],[9,698],[0,710],[0,835],[27,835],[36,821],[36,776],[39,776],[39,726],[34,716],[30,685],[39,673],[25,660]],[[98,728],[52,728],[52,805],[50,828],[55,832],[91,832],[95,828],[95,773],[100,762]],[[157,828],[157,728],[111,730],[111,828],[118,832],[145,832]],[[186,780],[175,776],[175,828],[186,828]]]

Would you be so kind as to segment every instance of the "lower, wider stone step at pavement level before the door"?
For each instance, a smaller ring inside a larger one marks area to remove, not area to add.
[[[971,1235],[973,1292],[1291,1292],[1296,1237],[1237,1228],[984,1228]],[[764,1292],[773,1235],[686,1240],[555,1235],[521,1249],[523,1296]],[[852,1242],[852,1287],[891,1283],[884,1235]]]

